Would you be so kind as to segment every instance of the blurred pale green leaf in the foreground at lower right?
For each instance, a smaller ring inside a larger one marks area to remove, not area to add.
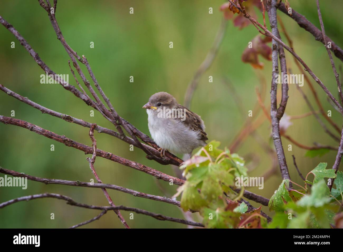
[[[312,185],[311,194],[303,196],[298,202],[298,206],[321,207],[330,202],[330,190],[324,180]]]

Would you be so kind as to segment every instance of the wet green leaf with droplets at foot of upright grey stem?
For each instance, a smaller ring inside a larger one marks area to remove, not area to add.
[[[292,198],[288,193],[287,188],[289,187],[289,180],[284,179],[280,184],[279,188],[275,191],[273,196],[270,198],[268,203],[270,210],[275,210],[276,212],[284,211],[285,203],[292,202]]]

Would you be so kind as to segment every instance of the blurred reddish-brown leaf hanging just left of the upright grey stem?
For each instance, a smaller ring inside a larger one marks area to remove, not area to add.
[[[252,48],[249,46],[244,50],[242,54],[242,61],[244,63],[250,63],[253,68],[263,68],[263,63],[259,62],[258,55],[261,55],[263,58],[267,60],[272,60],[271,54],[272,49],[267,45],[267,43],[271,42],[270,37],[262,37],[262,35],[257,35],[252,40]]]

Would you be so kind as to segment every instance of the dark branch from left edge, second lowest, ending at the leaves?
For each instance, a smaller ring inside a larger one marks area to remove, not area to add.
[[[169,199],[167,197],[162,197],[162,196],[156,196],[152,194],[147,194],[147,193],[142,193],[139,191],[131,190],[125,187],[120,187],[118,185],[114,184],[102,184],[102,183],[89,183],[89,182],[82,182],[82,181],[70,181],[70,180],[62,180],[62,179],[48,179],[48,178],[40,178],[40,177],[34,177],[31,175],[27,175],[23,172],[17,172],[13,170],[8,170],[0,167],[0,172],[3,174],[8,174],[13,177],[20,177],[20,178],[27,178],[28,180],[44,183],[44,184],[61,184],[61,185],[71,185],[75,187],[88,187],[88,188],[106,188],[110,190],[116,190],[119,192],[131,194],[135,197],[141,197],[144,199],[149,199],[149,200],[155,200],[155,201],[160,201],[176,206],[180,206],[180,202],[177,200]]]

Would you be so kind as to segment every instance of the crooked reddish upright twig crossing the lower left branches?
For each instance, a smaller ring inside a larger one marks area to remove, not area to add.
[[[91,168],[92,170],[92,173],[94,175],[94,177],[96,178],[96,180],[98,181],[98,183],[103,183],[99,176],[97,175],[96,171],[95,171],[95,168],[94,168],[94,163],[95,163],[95,158],[96,158],[96,139],[94,137],[94,129],[96,128],[96,124],[92,124],[90,130],[89,130],[89,136],[92,140],[92,158],[89,158],[87,157],[87,160],[89,162],[89,167]],[[105,197],[109,203],[110,206],[116,206],[114,203],[113,203],[113,200],[111,199],[111,197],[109,196],[107,190],[105,188],[102,188],[101,189],[104,194],[105,194]],[[125,228],[130,228],[129,225],[126,223],[124,217],[121,215],[120,211],[117,210],[117,209],[113,209],[113,211],[117,214],[118,218],[120,219],[121,223],[124,225]]]

